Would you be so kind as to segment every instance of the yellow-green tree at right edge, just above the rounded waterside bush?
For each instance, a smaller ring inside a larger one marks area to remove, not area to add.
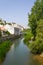
[[[40,19],[38,22],[36,39],[43,43],[43,19]]]

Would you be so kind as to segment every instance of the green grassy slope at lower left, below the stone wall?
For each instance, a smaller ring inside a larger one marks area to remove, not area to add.
[[[4,60],[4,57],[6,56],[7,51],[10,49],[11,41],[6,40],[2,43],[0,43],[0,63]]]

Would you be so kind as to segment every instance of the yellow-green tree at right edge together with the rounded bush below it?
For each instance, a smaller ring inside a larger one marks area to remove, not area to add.
[[[40,54],[43,52],[43,20],[39,20],[37,27],[37,36],[36,40],[30,45],[30,50],[34,54]]]

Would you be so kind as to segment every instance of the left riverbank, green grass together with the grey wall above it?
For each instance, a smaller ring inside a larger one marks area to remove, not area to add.
[[[17,36],[9,35],[9,36],[0,38],[1,40],[0,41],[0,64],[3,62],[6,56],[6,53],[8,52],[8,50],[11,47],[11,44],[13,43],[13,40],[20,38],[20,37],[21,35],[17,35]]]

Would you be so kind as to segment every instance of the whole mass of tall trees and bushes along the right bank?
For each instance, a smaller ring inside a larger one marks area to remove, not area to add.
[[[29,32],[25,36],[25,41],[27,40],[32,53],[40,54],[43,52],[43,0],[36,0],[31,9],[31,14],[28,15],[28,21],[34,41],[28,44],[29,40],[31,40]]]

